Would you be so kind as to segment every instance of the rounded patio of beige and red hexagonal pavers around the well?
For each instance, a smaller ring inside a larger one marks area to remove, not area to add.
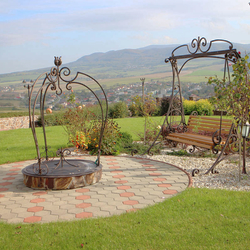
[[[81,159],[95,161],[96,157]],[[34,223],[117,215],[162,202],[192,182],[187,173],[171,164],[102,156],[99,183],[70,190],[34,190],[23,184],[21,169],[35,162],[0,165],[0,221]]]

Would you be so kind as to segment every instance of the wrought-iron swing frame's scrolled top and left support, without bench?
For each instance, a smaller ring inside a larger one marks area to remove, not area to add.
[[[216,43],[228,46],[228,48],[224,50],[213,50],[213,45]],[[180,51],[183,51],[183,49],[186,50],[185,54],[180,53]],[[172,51],[171,56],[165,59],[165,62],[170,63],[172,68],[172,94],[169,108],[161,126],[161,130],[156,136],[154,142],[145,153],[150,154],[150,150],[156,144],[159,136],[163,133],[163,129],[165,129],[168,133],[173,132],[175,129],[177,129],[179,132],[185,131],[187,124],[185,122],[182,103],[183,98],[181,91],[180,73],[188,62],[198,58],[214,58],[224,60],[224,78],[226,79],[227,76],[228,81],[230,81],[229,62],[236,63],[240,58],[240,54],[235,48],[233,48],[233,44],[227,40],[215,39],[208,43],[206,38],[204,37],[198,37],[198,39],[194,38],[190,45],[183,44],[176,47]],[[178,68],[178,60],[184,60],[184,62],[180,65],[180,68]],[[174,102],[174,100],[176,100],[176,102]],[[176,115],[181,116],[177,128],[173,127],[174,121],[172,119]]]

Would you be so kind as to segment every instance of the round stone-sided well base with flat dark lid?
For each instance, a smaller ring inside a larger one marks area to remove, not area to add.
[[[31,164],[22,170],[24,184],[34,189],[73,189],[92,185],[102,177],[102,165],[93,161],[67,159],[61,165],[60,160],[49,160],[39,165]]]

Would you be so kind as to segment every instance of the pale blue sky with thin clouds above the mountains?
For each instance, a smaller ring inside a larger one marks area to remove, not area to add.
[[[1,0],[0,74],[198,37],[250,44],[249,0]]]

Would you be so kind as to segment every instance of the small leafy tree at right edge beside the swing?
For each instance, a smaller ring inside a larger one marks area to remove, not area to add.
[[[210,77],[209,84],[214,84],[215,96],[213,102],[219,109],[226,110],[231,116],[234,116],[238,124],[246,124],[249,121],[249,106],[250,106],[250,63],[248,55],[240,58],[233,67],[233,80],[227,82],[226,79],[219,80],[218,77]],[[240,134],[241,143],[241,134]],[[241,146],[240,155],[241,155]],[[246,169],[242,169],[246,173]]]

